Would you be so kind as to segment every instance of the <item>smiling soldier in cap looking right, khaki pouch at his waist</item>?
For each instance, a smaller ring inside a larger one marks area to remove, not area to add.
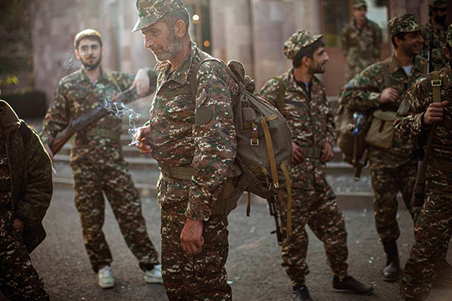
[[[420,54],[424,40],[414,16],[408,14],[393,18],[388,27],[396,48],[395,53],[388,59],[369,66],[347,82],[340,91],[339,102],[342,106],[356,111],[380,108],[383,113],[393,114],[395,118],[395,111],[406,90],[422,75],[426,61],[417,54]],[[383,269],[384,281],[396,281],[398,278],[396,240],[400,231],[396,220],[396,195],[399,191],[402,192],[403,201],[413,219],[415,216],[411,199],[417,172],[414,154],[417,147],[415,140],[402,141],[396,134],[392,143],[389,141],[389,148],[370,145],[367,155],[374,189],[376,231],[388,258]]]

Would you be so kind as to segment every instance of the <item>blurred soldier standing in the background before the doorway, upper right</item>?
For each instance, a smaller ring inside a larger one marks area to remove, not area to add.
[[[366,2],[354,0],[352,20],[342,29],[340,42],[347,59],[347,81],[380,59],[381,28],[366,18],[366,12]]]

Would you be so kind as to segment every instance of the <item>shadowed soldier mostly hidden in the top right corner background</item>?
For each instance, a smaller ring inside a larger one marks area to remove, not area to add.
[[[434,70],[440,70],[446,66],[447,59],[443,48],[446,47],[447,33],[447,1],[431,0],[429,2],[429,23],[422,27],[422,36],[424,37],[424,47],[422,53],[424,58],[428,58],[430,30],[433,30],[433,49],[432,62]]]

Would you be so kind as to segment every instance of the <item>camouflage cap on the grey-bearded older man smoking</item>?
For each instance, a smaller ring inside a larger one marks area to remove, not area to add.
[[[153,25],[165,14],[185,8],[182,0],[136,0],[138,21],[132,32]]]

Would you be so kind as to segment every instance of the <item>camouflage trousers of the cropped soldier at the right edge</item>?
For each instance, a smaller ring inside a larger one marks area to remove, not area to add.
[[[444,266],[452,233],[452,172],[428,166],[425,202],[415,225],[415,245],[405,264],[400,296],[424,300],[432,278]]]

